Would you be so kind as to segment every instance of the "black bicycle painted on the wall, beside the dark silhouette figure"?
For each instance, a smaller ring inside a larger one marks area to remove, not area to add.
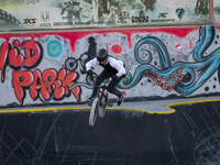
[[[68,72],[74,72],[76,70],[76,68],[78,67],[78,64],[80,65],[80,73],[84,75],[84,74],[87,74],[86,75],[86,82],[89,84],[89,85],[92,85],[97,78],[97,74],[96,73],[92,73],[91,75],[89,75],[87,72],[86,72],[86,66],[85,66],[85,61],[82,59],[82,56],[86,55],[85,53],[80,55],[79,58],[74,58],[74,57],[68,57],[65,62],[65,68],[68,70]]]

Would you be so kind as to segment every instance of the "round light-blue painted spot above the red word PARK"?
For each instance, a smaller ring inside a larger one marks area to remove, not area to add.
[[[63,53],[63,44],[57,40],[52,40],[46,45],[46,52],[50,57],[59,57]]]

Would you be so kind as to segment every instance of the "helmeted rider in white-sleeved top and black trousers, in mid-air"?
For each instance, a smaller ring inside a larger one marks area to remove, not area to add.
[[[97,57],[86,64],[86,70],[88,72],[88,74],[92,74],[91,68],[96,65],[102,66],[103,70],[97,77],[94,85],[92,94],[87,99],[87,101],[92,101],[98,92],[98,86],[100,86],[103,80],[111,77],[111,81],[109,82],[107,90],[118,97],[118,106],[120,106],[123,102],[124,94],[119,91],[116,87],[127,75],[123,62],[109,56],[107,50],[101,48],[99,50]]]

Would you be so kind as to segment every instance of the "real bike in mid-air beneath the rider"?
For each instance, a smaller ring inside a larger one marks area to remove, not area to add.
[[[106,84],[108,80],[106,81]],[[96,122],[97,116],[103,118],[106,114],[106,108],[108,106],[108,91],[107,86],[98,86],[98,92],[95,99],[91,102],[91,109],[89,114],[89,125],[92,127]],[[111,105],[109,105],[111,106]]]

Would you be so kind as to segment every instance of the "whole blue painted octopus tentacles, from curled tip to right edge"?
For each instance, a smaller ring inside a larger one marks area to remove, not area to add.
[[[142,38],[134,48],[135,59],[141,64],[134,75],[130,73],[119,84],[120,88],[129,89],[134,87],[143,77],[144,72],[152,70],[164,77],[164,79],[170,77],[179,68],[183,69],[184,78],[175,85],[175,90],[180,95],[190,95],[199,87],[201,87],[218,69],[220,61],[220,47],[208,54],[208,48],[213,43],[216,29],[213,26],[201,26],[199,41],[194,50],[193,57],[195,63],[175,63],[170,64],[169,54],[166,46],[157,37],[144,37]],[[152,61],[152,54],[146,51],[147,59],[143,61],[140,58],[140,48],[143,44],[153,45],[160,56],[161,69],[155,68],[150,63]],[[174,84],[176,79],[169,81]]]

